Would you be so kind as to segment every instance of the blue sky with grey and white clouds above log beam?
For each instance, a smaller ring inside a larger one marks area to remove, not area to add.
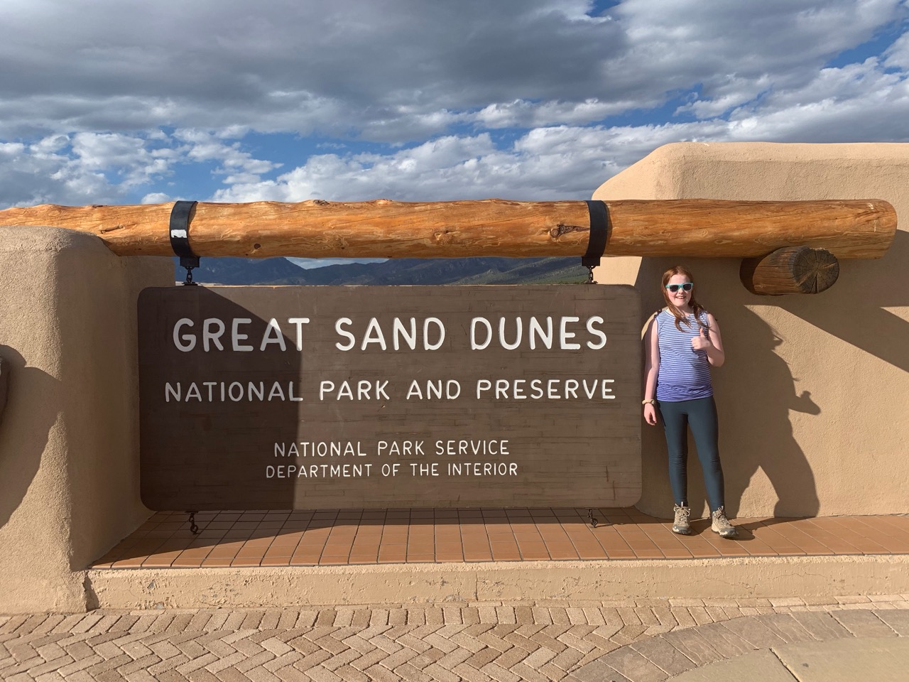
[[[5,0],[0,208],[587,198],[682,140],[909,141],[905,0]]]

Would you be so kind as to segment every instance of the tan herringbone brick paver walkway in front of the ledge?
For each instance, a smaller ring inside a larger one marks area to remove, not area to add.
[[[0,616],[0,679],[662,682],[844,637],[909,637],[909,595]]]

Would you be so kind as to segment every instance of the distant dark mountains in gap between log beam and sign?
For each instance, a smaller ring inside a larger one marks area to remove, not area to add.
[[[186,271],[175,258],[175,279]],[[202,258],[199,284],[220,285],[483,285],[580,284],[587,270],[578,257],[393,258],[304,269],[286,258]]]

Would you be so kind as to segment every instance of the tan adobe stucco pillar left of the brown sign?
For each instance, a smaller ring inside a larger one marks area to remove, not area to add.
[[[135,299],[164,258],[95,236],[0,227],[0,613],[85,610],[88,563],[149,514],[139,502]]]

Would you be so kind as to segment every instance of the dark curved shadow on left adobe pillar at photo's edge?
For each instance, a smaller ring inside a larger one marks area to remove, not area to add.
[[[0,346],[9,374],[7,401],[0,424],[0,527],[22,504],[41,466],[56,421],[59,384],[11,346]],[[35,519],[35,523],[39,523]]]

